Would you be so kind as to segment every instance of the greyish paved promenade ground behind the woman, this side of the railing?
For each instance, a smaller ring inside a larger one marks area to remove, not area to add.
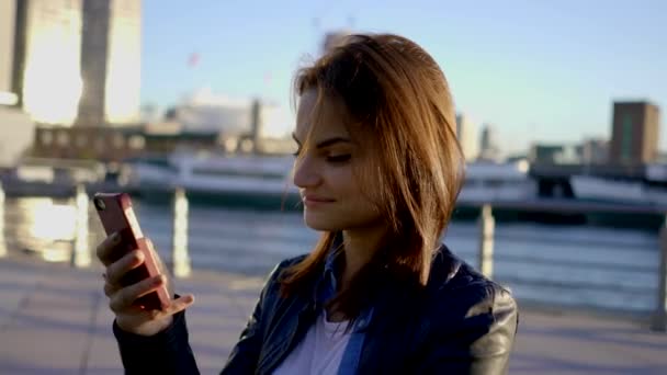
[[[122,373],[101,272],[0,259],[0,374]],[[203,374],[222,368],[261,283],[199,270],[177,281],[177,291],[196,296],[188,321]],[[510,374],[667,374],[667,333],[626,319],[523,307]]]

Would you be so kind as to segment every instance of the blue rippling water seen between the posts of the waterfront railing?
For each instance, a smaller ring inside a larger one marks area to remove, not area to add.
[[[67,261],[76,226],[70,201],[8,200],[10,251]],[[171,208],[135,202],[146,236],[171,259]],[[91,248],[103,238],[90,207]],[[265,275],[279,261],[309,251],[318,234],[301,215],[190,207],[189,250],[193,270]],[[657,234],[636,229],[497,223],[494,279],[519,300],[648,312],[656,306]],[[476,265],[478,229],[453,223],[443,241]]]

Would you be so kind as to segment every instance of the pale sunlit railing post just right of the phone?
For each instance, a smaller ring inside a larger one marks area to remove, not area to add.
[[[176,277],[188,277],[192,270],[190,268],[190,255],[188,254],[188,197],[182,188],[178,188],[173,194],[173,248],[171,263]]]

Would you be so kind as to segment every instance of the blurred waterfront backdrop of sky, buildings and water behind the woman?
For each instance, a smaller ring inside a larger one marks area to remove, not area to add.
[[[183,275],[308,251],[293,75],[391,32],[455,100],[467,177],[445,243],[521,302],[659,315],[665,24],[658,0],[0,0],[0,255],[89,266],[98,191],[131,193]]]

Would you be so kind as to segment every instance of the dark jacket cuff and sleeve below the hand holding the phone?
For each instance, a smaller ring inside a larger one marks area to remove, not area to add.
[[[123,331],[114,320],[125,374],[199,374],[188,341],[185,311],[173,316],[172,325],[151,337]]]

